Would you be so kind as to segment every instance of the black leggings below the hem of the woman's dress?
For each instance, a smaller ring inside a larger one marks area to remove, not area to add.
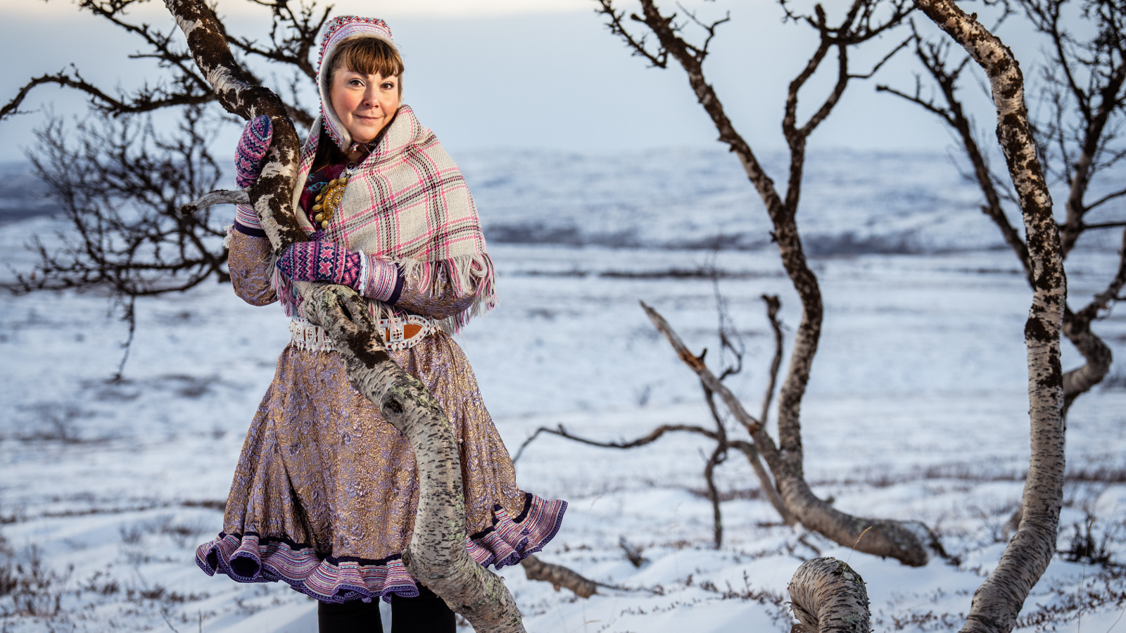
[[[318,603],[320,633],[383,633],[379,601]],[[391,597],[391,633],[454,633],[454,612],[434,591],[419,585],[417,598]]]

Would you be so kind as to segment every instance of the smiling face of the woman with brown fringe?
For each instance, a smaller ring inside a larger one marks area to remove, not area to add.
[[[369,143],[399,110],[399,78],[340,68],[332,75],[330,98],[352,141]]]

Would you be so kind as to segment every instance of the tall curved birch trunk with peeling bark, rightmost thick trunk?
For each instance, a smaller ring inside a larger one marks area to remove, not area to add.
[[[1021,520],[997,569],[974,594],[966,633],[1012,631],[1033,586],[1055,553],[1063,502],[1063,369],[1060,333],[1066,278],[1052,197],[1036,157],[1025,106],[1024,75],[1012,52],[951,0],[915,0],[915,6],[960,44],[990,79],[997,107],[997,137],[1017,189],[1028,235],[1033,304],[1025,323],[1031,457],[1021,499]]]

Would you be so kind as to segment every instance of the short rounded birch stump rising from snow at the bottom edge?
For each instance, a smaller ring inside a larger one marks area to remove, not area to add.
[[[797,568],[786,588],[795,624],[793,633],[868,633],[872,613],[864,579],[848,563],[813,559]]]

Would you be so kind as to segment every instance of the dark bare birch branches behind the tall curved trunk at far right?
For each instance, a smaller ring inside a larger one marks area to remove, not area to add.
[[[1093,0],[1082,7],[1073,0],[1018,0],[1006,5],[1001,21],[1021,19],[1044,37],[1045,60],[1039,66],[1040,89],[1034,93],[1039,116],[1030,122],[1045,177],[1066,186],[1065,217],[1060,223],[1061,253],[1067,256],[1083,234],[1120,230],[1119,258],[1105,289],[1079,309],[1064,306],[1063,333],[1083,357],[1083,364],[1064,373],[1064,414],[1076,398],[1102,382],[1114,354],[1092,331],[1126,285],[1126,219],[1092,221],[1126,196],[1114,169],[1126,160],[1123,124],[1126,124],[1126,6],[1114,0]],[[1065,14],[1067,14],[1065,18]],[[1072,26],[1065,26],[1065,21]],[[1000,231],[1031,283],[1028,244],[1009,222],[1006,208],[1019,200],[1006,186],[982,150],[966,100],[959,95],[972,79],[971,56],[957,60],[950,39],[931,41],[915,33],[913,48],[919,65],[930,79],[933,96],[923,95],[922,81],[914,91],[877,86],[937,116],[953,132],[966,176],[982,193],[982,212]],[[1101,180],[1102,187],[1096,189]]]

